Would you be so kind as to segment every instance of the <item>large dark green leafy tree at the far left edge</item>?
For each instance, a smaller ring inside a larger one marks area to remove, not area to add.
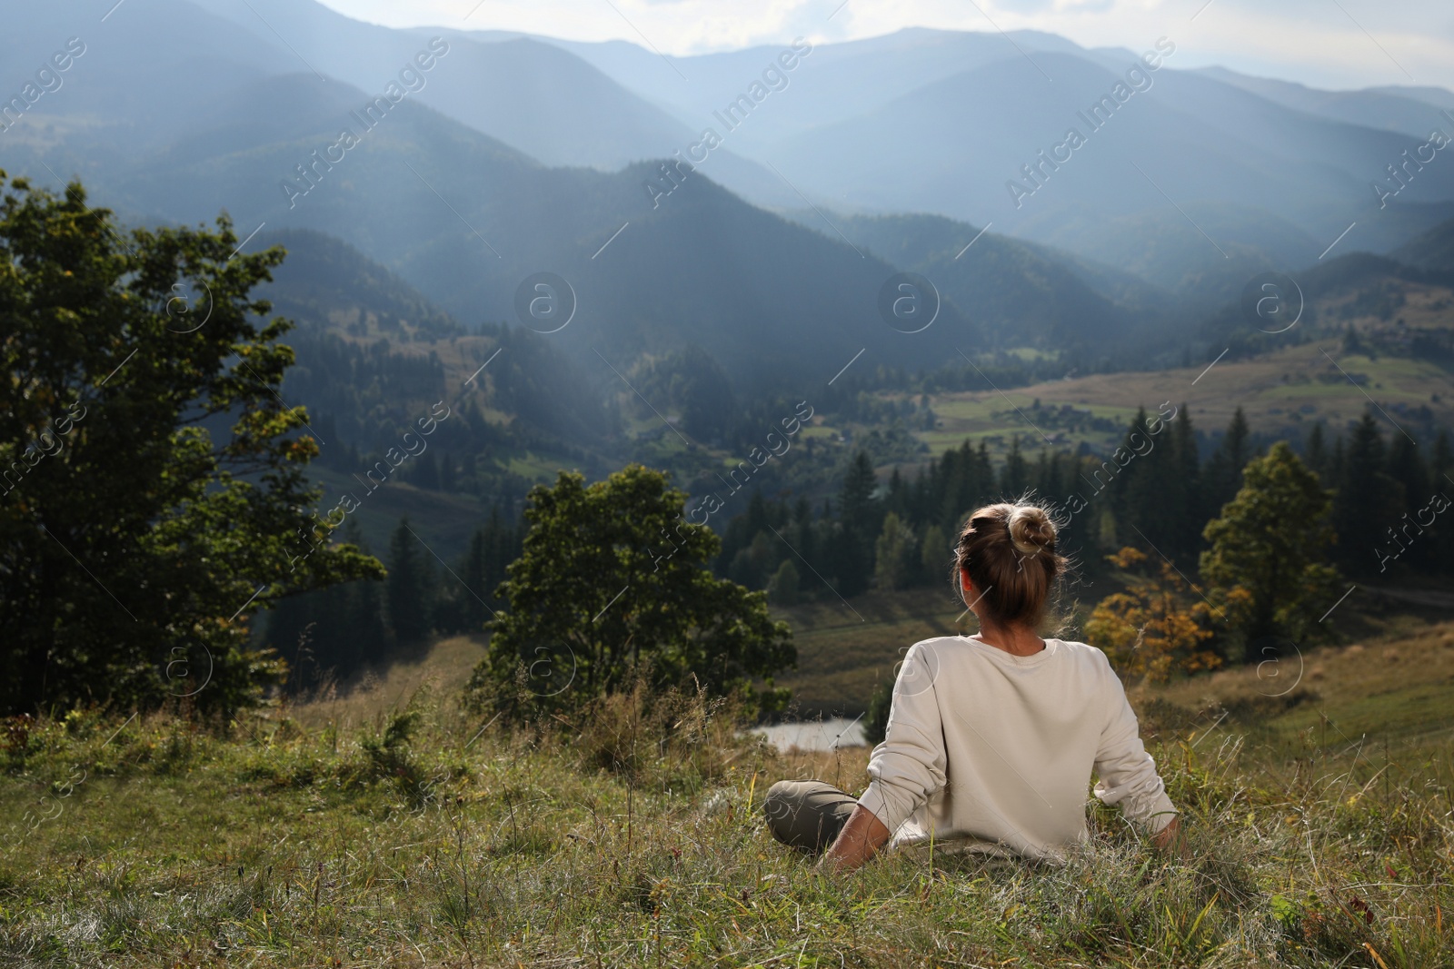
[[[285,665],[250,616],[381,574],[310,519],[318,445],[276,392],[291,324],[250,296],[284,251],[238,253],[225,215],[124,238],[80,183],[9,185],[0,712],[256,703]]]

